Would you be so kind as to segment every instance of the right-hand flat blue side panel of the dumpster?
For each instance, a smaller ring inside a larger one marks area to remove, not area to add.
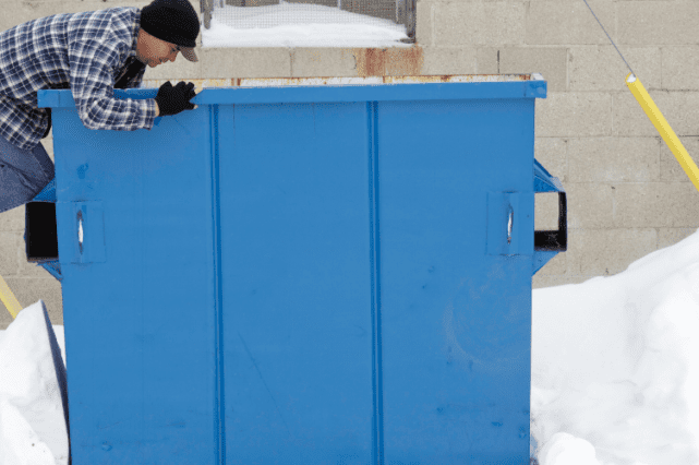
[[[529,463],[532,247],[489,254],[486,225],[489,191],[525,193],[533,245],[533,111],[378,104],[386,464]]]

